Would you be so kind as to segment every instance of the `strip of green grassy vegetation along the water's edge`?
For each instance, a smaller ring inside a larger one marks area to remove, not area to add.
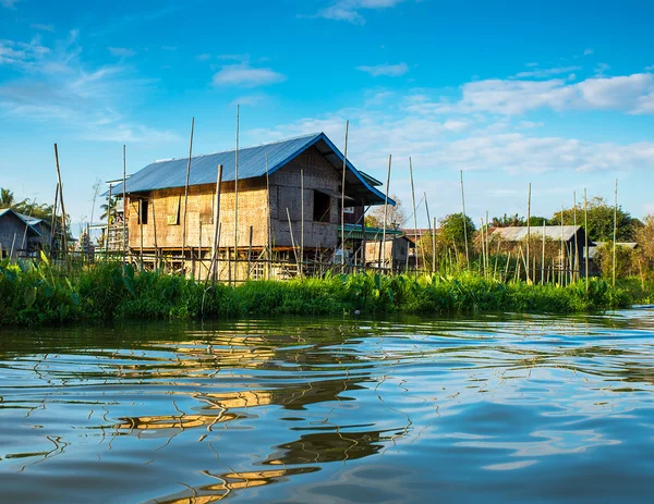
[[[120,263],[63,273],[47,262],[0,263],[0,327],[72,321],[237,318],[246,315],[594,312],[652,303],[654,284],[602,279],[568,286],[502,283],[473,272],[455,276],[376,273],[204,283]]]

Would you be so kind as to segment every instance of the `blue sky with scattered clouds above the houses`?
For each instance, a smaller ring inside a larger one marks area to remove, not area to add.
[[[66,210],[155,159],[324,131],[433,216],[654,212],[654,5],[640,1],[0,0],[0,186]],[[98,202],[99,205],[99,202]],[[96,211],[96,216],[97,216]],[[426,224],[424,209],[419,225]]]

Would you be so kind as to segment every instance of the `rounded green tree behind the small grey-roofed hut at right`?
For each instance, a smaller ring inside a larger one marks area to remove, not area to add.
[[[589,229],[585,230],[590,239],[600,242],[613,242],[614,232],[614,207],[608,205],[604,198],[594,197],[588,201]],[[617,241],[633,242],[638,228],[642,225],[638,219],[633,219],[629,212],[618,206],[617,211]],[[572,225],[574,222],[574,209],[562,210],[564,224]],[[552,225],[560,225],[561,211],[554,214],[549,222]],[[584,224],[583,204],[577,205],[577,225]]]

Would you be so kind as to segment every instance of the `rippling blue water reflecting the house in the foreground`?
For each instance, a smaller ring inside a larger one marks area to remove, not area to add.
[[[650,502],[654,310],[0,332],[0,502]]]

